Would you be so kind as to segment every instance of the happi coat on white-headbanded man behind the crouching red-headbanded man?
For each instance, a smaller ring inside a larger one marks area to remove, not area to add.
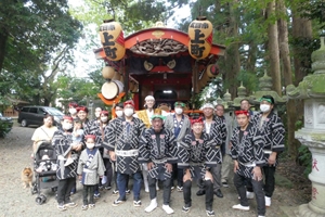
[[[220,118],[217,116],[213,116],[212,123],[209,126],[209,129],[207,127],[206,120],[204,118],[204,132],[209,135],[209,138],[211,139],[211,145],[216,146],[216,149],[220,149],[222,145],[222,142],[225,142],[226,139],[226,127],[225,123],[221,122]],[[222,163],[222,153],[221,150],[218,152],[219,156],[217,157],[217,163]]]

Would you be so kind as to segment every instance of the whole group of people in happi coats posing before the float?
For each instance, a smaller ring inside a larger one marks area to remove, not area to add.
[[[192,208],[192,182],[198,186],[197,195],[205,195],[206,214],[214,216],[213,194],[223,197],[221,187],[227,181],[234,162],[234,186],[240,203],[234,209],[249,210],[247,199],[255,193],[258,215],[265,216],[274,191],[277,154],[284,150],[284,127],[274,113],[274,99],[260,100],[261,112],[253,114],[248,100],[235,112],[237,127],[223,114],[224,107],[211,103],[203,106],[203,116],[190,118],[185,104],[174,103],[174,113],[154,108],[155,99],[145,98],[145,110],[135,112],[128,100],[114,106],[116,118],[98,107],[96,118],[88,119],[88,108],[69,104],[60,129],[52,126],[53,117],[46,116],[44,125],[35,131],[34,152],[44,140],[51,141],[57,154],[57,208],[65,210],[77,204],[70,201],[76,179],[83,184],[82,209],[93,208],[100,189],[112,189],[118,197],[113,206],[125,203],[129,177],[133,178],[133,206],[141,206],[141,188],[150,192],[146,213],[157,206],[158,182],[162,184],[162,209],[172,214],[170,194],[183,192],[182,212]],[[51,123],[52,122],[52,123]],[[81,127],[78,127],[80,123]],[[80,139],[80,133],[82,136]],[[115,174],[115,175],[114,175]],[[264,181],[263,181],[264,176]],[[115,177],[115,180],[113,178]]]

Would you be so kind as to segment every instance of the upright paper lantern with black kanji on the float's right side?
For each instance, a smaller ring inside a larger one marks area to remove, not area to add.
[[[188,51],[196,60],[209,55],[212,44],[212,24],[205,17],[199,16],[188,26]]]

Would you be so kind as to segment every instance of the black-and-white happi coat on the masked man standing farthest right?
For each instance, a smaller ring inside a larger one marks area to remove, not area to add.
[[[285,150],[285,128],[281,118],[272,111],[265,119],[262,113],[258,113],[252,118],[252,124],[258,128],[263,138],[264,152],[283,152]],[[270,152],[264,154],[265,161],[270,157]]]

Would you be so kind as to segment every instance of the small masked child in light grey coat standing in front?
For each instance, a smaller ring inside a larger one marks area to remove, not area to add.
[[[105,166],[98,148],[95,148],[95,136],[87,135],[84,137],[87,149],[81,152],[78,163],[77,174],[83,184],[83,205],[82,210],[94,205],[94,187],[99,183],[99,177],[104,176]],[[88,201],[89,194],[89,201]]]

